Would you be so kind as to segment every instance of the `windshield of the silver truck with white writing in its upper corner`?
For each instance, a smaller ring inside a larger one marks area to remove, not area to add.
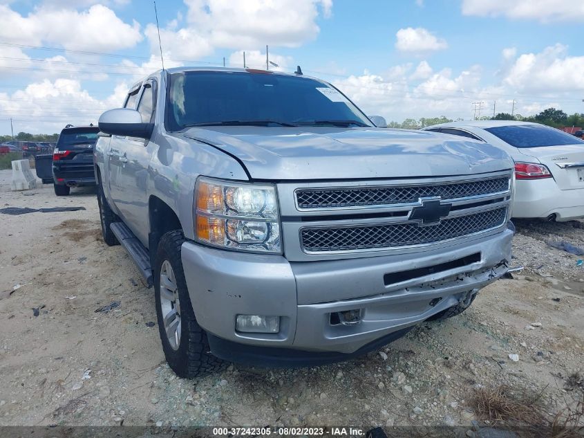
[[[170,77],[167,129],[188,126],[372,126],[343,94],[308,77],[190,71]]]

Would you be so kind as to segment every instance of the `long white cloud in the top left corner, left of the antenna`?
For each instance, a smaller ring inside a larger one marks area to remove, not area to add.
[[[26,17],[0,5],[0,40],[39,46],[58,44],[69,50],[116,51],[142,40],[140,25],[124,23],[113,10],[95,4],[88,10],[41,7]]]

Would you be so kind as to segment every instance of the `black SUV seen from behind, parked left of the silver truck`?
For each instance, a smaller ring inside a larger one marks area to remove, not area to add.
[[[70,125],[61,131],[53,150],[53,183],[58,197],[68,195],[72,187],[95,185],[93,147],[99,131],[94,126]]]

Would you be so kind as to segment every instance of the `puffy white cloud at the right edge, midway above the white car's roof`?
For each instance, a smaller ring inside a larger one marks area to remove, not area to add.
[[[550,93],[584,90],[584,56],[568,56],[561,44],[524,53],[511,66],[505,84],[521,91]]]

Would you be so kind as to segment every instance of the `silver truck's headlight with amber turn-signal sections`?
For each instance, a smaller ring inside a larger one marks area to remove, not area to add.
[[[195,234],[202,243],[221,248],[281,253],[274,185],[199,177]]]

